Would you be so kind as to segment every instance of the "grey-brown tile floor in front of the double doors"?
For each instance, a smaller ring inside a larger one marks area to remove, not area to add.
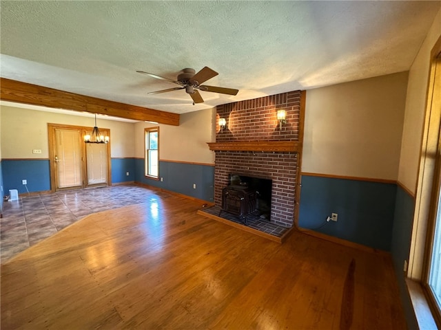
[[[0,262],[59,232],[88,214],[170,197],[161,190],[121,185],[20,196],[3,202]]]

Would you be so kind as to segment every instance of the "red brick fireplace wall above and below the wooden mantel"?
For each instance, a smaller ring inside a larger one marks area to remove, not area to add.
[[[287,111],[287,122],[280,130],[277,110]],[[216,142],[298,140],[300,91],[245,100],[216,107],[217,119],[225,118],[227,127],[218,130]],[[222,188],[229,173],[272,179],[271,222],[291,227],[294,221],[296,153],[216,152],[214,203],[221,204]]]

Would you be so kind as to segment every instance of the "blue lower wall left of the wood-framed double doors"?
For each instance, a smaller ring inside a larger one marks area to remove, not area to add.
[[[19,194],[25,192],[38,192],[50,190],[49,159],[3,159],[1,170],[3,173],[3,189],[5,195],[9,195],[10,189],[19,190]],[[28,181],[26,186],[21,180]]]

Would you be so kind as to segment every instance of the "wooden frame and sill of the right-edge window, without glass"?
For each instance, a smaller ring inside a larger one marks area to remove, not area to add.
[[[426,111],[416,184],[409,267],[407,268],[407,279],[418,283],[421,288],[422,296],[407,281],[418,323],[430,324],[431,327],[436,324],[441,329],[441,307],[429,286],[438,197],[441,193],[439,190],[441,186],[441,107],[438,105],[439,101],[436,100],[441,87],[439,81],[435,80],[435,78],[440,79],[440,74],[441,37],[433,46],[430,56]],[[432,317],[431,320],[429,320],[430,317]]]

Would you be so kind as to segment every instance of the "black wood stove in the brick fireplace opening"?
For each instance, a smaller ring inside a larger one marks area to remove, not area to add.
[[[247,216],[257,210],[257,191],[247,186],[226,186],[222,190],[222,211],[236,214],[247,224]]]

